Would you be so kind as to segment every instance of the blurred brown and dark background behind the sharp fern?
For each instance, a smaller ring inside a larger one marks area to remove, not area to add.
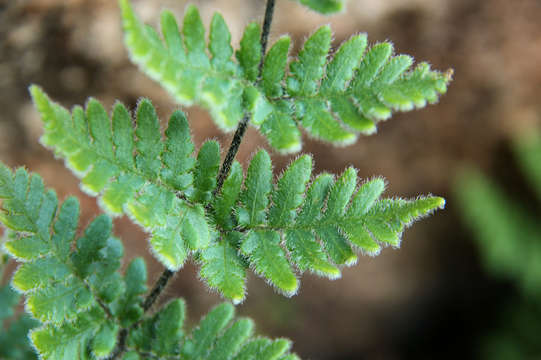
[[[152,25],[162,9],[180,17],[187,4],[133,2]],[[220,11],[235,44],[265,6],[191,3],[207,25]],[[253,317],[260,333],[291,338],[303,359],[541,358],[541,2],[350,0],[332,17],[277,3],[272,38],[289,33],[294,51],[330,23],[335,46],[367,32],[371,44],[391,40],[399,53],[454,69],[439,104],[396,114],[377,135],[346,148],[307,138],[303,148],[314,155],[316,172],[352,164],[363,178],[384,176],[388,196],[432,193],[447,206],[406,231],[399,251],[361,257],[341,279],[305,274],[291,299],[250,275],[238,312]],[[129,62],[116,1],[0,1],[0,161],[40,173],[60,198],[79,196],[87,223],[98,206],[38,143],[31,83],[67,107],[93,96],[109,108],[115,99],[133,108],[149,97],[166,119],[178,105]],[[231,134],[220,133],[206,111],[184,110],[197,146],[206,138],[229,145]],[[262,146],[268,148],[250,129],[239,160]],[[291,157],[274,153],[273,161],[279,172]],[[115,223],[128,258],[145,256],[154,281],[163,268],[149,255],[145,234],[126,218]],[[188,264],[161,299],[184,297],[191,323],[220,301],[197,270]]]

